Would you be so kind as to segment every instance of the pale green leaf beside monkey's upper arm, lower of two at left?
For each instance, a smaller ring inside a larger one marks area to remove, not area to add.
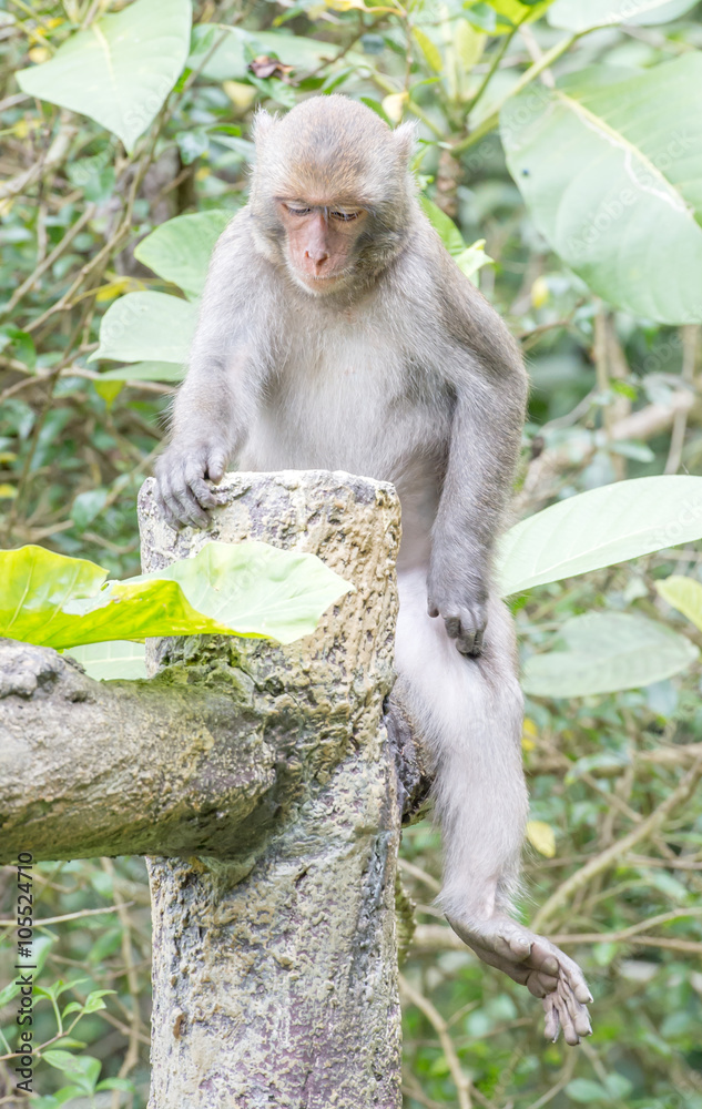
[[[89,362],[182,364],[195,330],[197,308],[167,293],[128,293],[111,304],[100,324],[100,346]]]

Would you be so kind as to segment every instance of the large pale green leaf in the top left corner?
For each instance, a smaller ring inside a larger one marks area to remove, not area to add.
[[[89,115],[131,153],[187,58],[191,0],[136,0],[73,34],[41,65],[20,70],[22,92]]]

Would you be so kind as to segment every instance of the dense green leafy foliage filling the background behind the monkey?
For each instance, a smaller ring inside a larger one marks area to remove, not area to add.
[[[622,619],[645,621],[647,635],[668,625],[667,642],[692,659],[696,515],[674,486],[641,481],[699,482],[702,469],[699,13],[692,0],[196,0],[189,41],[184,0],[3,6],[2,546],[138,573],[135,495],[182,374],[206,255],[245,201],[251,114],[340,91],[393,124],[417,121],[431,218],[528,353],[527,519],[509,542],[530,554],[517,564],[506,546],[502,570],[527,674],[568,653],[553,648],[572,645],[573,628],[599,627],[609,632],[587,640],[588,665],[607,676],[627,661],[613,638]],[[660,659],[642,637],[634,648],[639,662]],[[134,665],[119,644],[100,650],[113,673]],[[700,800],[657,817],[696,773],[699,665],[628,681],[653,676],[528,703],[528,877],[535,903],[555,905],[549,928],[587,967],[596,1036],[577,1052],[545,1047],[532,999],[433,933],[405,966],[433,1006],[407,1007],[407,1109],[465,1109],[470,1085],[486,1109],[701,1109]],[[612,861],[612,844],[635,834]],[[408,830],[404,853],[420,934],[440,922],[436,834]],[[142,863],[38,873],[42,917],[64,919],[43,927],[37,1105],[85,1105],[106,1081],[113,1109],[142,1107]],[[522,912],[535,916],[531,903]],[[104,989],[116,993],[94,1007]],[[0,1001],[10,1056],[12,998]],[[0,1067],[9,1089],[11,1058]]]

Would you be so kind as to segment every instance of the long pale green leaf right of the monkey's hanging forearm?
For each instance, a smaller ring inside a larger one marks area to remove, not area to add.
[[[503,537],[503,597],[702,538],[702,478],[634,478],[579,494]]]

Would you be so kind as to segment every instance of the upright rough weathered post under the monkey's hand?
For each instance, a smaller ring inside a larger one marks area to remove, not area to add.
[[[244,834],[235,858],[150,859],[150,1109],[398,1109],[401,806],[383,725],[397,498],[389,486],[316,471],[228,475],[221,488],[211,531],[175,536],[146,482],[144,569],[208,538],[257,538],[319,554],[357,592],[287,648],[156,648],[176,684],[218,685],[223,658],[242,675],[286,786],[252,811],[244,833],[265,835]]]

